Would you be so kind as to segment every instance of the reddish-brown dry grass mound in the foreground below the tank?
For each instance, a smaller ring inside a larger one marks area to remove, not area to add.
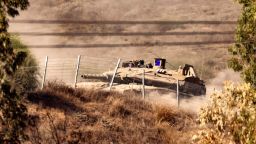
[[[28,100],[28,143],[189,143],[196,126],[193,114],[132,93],[49,83]]]

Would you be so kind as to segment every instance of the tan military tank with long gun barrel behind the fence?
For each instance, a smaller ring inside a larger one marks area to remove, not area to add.
[[[81,77],[88,80],[110,82],[115,73],[113,82],[119,84],[142,83],[147,86],[169,88],[176,90],[177,82],[179,91],[192,95],[205,95],[205,82],[197,77],[194,67],[189,64],[180,66],[177,70],[165,68],[166,59],[155,58],[154,64],[145,64],[144,60],[125,61],[115,71],[102,74],[83,74]]]

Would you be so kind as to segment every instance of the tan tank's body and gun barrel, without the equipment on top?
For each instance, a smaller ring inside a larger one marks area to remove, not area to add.
[[[142,83],[144,73],[144,83],[147,86],[160,88],[177,89],[177,81],[179,81],[179,91],[191,95],[205,95],[206,87],[204,82],[198,78],[186,78],[179,75],[176,71],[169,70],[165,74],[156,74],[153,69],[147,68],[119,68],[114,78],[114,83],[129,84]],[[87,81],[98,80],[110,82],[113,72],[105,72],[101,75],[84,74],[82,78]]]

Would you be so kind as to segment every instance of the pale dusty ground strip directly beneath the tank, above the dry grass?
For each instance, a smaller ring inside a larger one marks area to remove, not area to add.
[[[83,82],[78,83],[77,87],[96,91],[109,91],[109,84],[104,82]],[[145,97],[142,95],[142,85],[140,84],[113,84],[111,90],[122,94],[133,92],[138,97],[154,105],[160,104],[178,107],[177,93],[175,90],[145,86]],[[209,91],[209,93],[211,92],[213,91]],[[179,93],[179,108],[185,111],[198,113],[207,101],[208,96],[192,96],[186,93]]]

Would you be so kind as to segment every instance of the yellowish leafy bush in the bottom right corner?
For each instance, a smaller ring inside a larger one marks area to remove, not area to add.
[[[200,143],[256,143],[256,91],[250,84],[226,83],[202,109],[200,122],[206,130]]]

